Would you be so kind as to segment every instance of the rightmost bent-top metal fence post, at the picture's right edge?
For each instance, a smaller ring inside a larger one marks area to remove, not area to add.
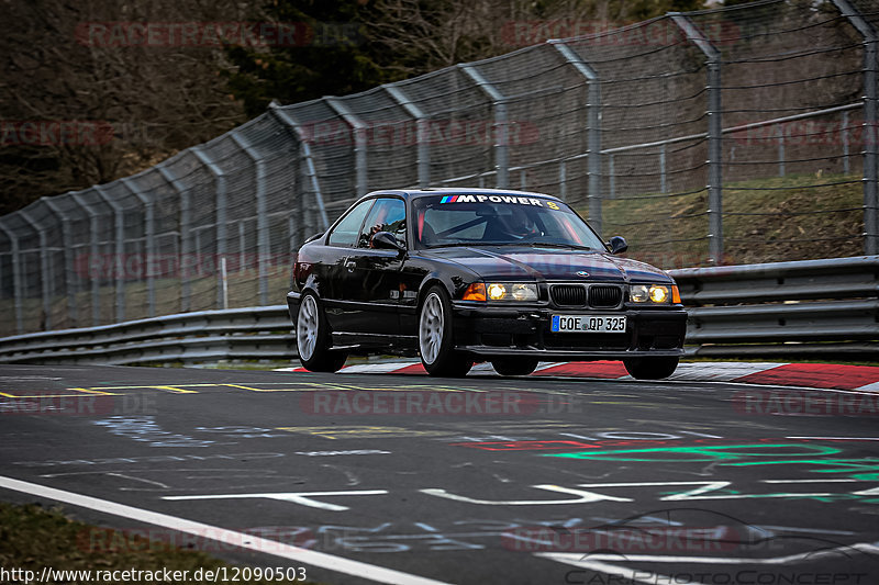
[[[877,164],[877,70],[879,34],[848,0],[833,0],[839,12],[864,37],[864,254],[879,254],[879,165]]]

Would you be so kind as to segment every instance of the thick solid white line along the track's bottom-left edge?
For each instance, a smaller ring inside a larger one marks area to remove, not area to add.
[[[285,544],[283,542],[258,538],[244,532],[226,530],[225,528],[186,520],[183,518],[177,518],[176,516],[168,516],[167,514],[134,508],[124,504],[116,504],[115,502],[75,494],[73,492],[65,492],[63,490],[23,482],[12,477],[4,477],[2,475],[0,475],[0,487],[5,487],[7,490],[13,490],[15,492],[23,492],[25,494],[32,494],[40,497],[46,497],[57,502],[64,502],[66,504],[93,509],[103,514],[112,514],[113,516],[130,518],[140,522],[162,526],[179,532],[194,535],[200,538],[216,540],[218,542],[234,542],[236,545],[243,549],[248,549],[263,554],[271,554],[282,559],[289,559],[291,561],[310,564],[312,566],[329,569],[330,571],[337,571],[340,573],[355,575],[366,580],[376,581],[378,583],[393,583],[401,585],[447,585],[442,581],[434,581],[432,578],[421,577],[419,575],[412,575],[401,571],[394,571],[393,569],[385,569],[382,566],[363,563],[360,561],[352,561],[351,559],[326,554],[325,552],[301,549],[299,547],[292,547],[290,544]]]

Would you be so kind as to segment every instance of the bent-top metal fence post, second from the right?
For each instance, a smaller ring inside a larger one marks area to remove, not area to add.
[[[723,263],[723,109],[721,104],[721,53],[708,37],[680,12],[669,12],[675,24],[705,56],[708,69],[708,223],[709,256],[714,265]]]

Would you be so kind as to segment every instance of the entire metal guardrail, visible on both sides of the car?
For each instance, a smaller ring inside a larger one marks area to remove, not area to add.
[[[879,359],[879,256],[672,270],[692,356]],[[289,360],[286,305],[181,313],[0,339],[0,363]]]

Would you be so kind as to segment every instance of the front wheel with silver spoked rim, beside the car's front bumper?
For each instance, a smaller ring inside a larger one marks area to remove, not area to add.
[[[455,351],[452,302],[442,286],[431,286],[419,310],[419,353],[427,373],[463,378],[474,360]]]

